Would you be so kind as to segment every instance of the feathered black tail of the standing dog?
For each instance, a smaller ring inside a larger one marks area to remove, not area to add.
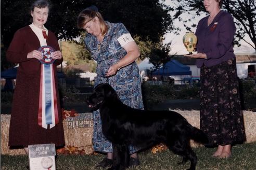
[[[189,131],[190,131],[190,137],[191,139],[197,141],[201,144],[207,144],[208,143],[208,137],[205,133],[203,133],[202,130],[197,129],[196,127],[189,124]]]

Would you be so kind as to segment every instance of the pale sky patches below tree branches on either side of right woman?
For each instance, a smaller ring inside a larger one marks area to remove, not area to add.
[[[174,0],[166,0],[165,1],[165,4],[171,5],[171,6],[175,6],[175,3],[176,3],[176,1],[174,1]],[[170,12],[170,13],[172,15],[172,12]],[[203,17],[205,17],[207,15],[208,14],[206,13],[206,15],[204,15],[204,16],[197,17],[195,20],[193,20],[193,22],[191,22],[191,24],[193,24],[193,23],[197,24],[200,19],[202,19]],[[182,17],[189,18],[190,16],[183,15]],[[174,25],[175,26],[180,26],[180,28],[181,28],[180,35],[175,35],[174,33],[165,34],[164,44],[167,44],[170,41],[172,41],[172,44],[171,44],[172,51],[171,52],[173,54],[174,53],[181,54],[181,55],[182,54],[187,54],[188,51],[186,50],[186,48],[184,47],[183,42],[182,42],[182,37],[185,35],[187,30],[183,26],[182,22],[175,21]],[[195,28],[191,27],[191,31],[196,32],[196,27]],[[246,36],[246,39],[247,39],[247,41],[251,42],[251,44],[252,44],[252,41],[250,40],[248,35]],[[241,44],[241,46],[240,47],[234,46],[234,53],[236,53],[236,54],[255,53],[255,50],[250,45],[245,43],[245,41],[241,40],[239,43]]]

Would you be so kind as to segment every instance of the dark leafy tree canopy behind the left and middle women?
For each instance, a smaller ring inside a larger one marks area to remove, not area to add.
[[[33,2],[34,0],[1,1],[1,45],[3,46],[1,50],[6,51],[18,29],[32,22],[29,8]],[[172,17],[169,14],[173,8],[164,5],[164,0],[54,0],[51,2],[52,8],[45,26],[62,40],[72,40],[80,36],[81,31],[76,26],[76,18],[81,10],[91,5],[99,8],[105,20],[124,23],[132,36],[137,37],[136,41],[142,42],[140,45],[147,41],[158,43],[165,33],[173,29]],[[7,63],[4,62],[2,65]]]

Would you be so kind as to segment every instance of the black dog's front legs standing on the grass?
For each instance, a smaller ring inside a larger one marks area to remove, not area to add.
[[[124,170],[129,167],[129,150],[125,144],[112,144],[113,165],[109,170]]]

